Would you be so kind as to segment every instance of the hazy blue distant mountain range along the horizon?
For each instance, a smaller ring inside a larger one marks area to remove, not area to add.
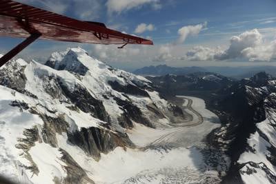
[[[224,76],[230,76],[235,79],[249,78],[256,74],[257,72],[266,72],[272,76],[276,76],[275,66],[239,66],[239,67],[217,67],[217,66],[207,66],[207,67],[170,67],[168,65],[157,65],[157,66],[147,66],[135,70],[133,73],[140,75],[151,75],[151,76],[161,76],[166,74],[192,74],[195,72],[215,72],[217,74],[222,74]]]

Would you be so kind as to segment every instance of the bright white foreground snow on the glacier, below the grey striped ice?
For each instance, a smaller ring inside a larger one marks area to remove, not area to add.
[[[97,162],[88,158],[77,147],[68,145],[64,136],[59,136],[59,145],[78,161],[95,183],[132,183],[132,181],[139,183],[140,178],[154,178],[155,175],[159,175],[161,180],[168,180],[173,179],[168,176],[174,174],[175,170],[187,168],[193,170],[194,174],[201,174],[199,169],[204,168],[202,156],[195,148],[190,150],[179,148],[166,152],[165,150],[124,150],[117,147],[109,154],[102,154],[101,160]],[[175,178],[175,180],[179,179],[181,178]],[[155,183],[154,180],[147,181]]]

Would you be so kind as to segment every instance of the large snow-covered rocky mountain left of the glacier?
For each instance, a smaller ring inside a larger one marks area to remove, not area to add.
[[[55,52],[46,65],[10,61],[0,92],[0,172],[21,183],[93,183],[64,147],[99,161],[116,147],[135,148],[126,134],[133,123],[166,127],[184,118],[150,81],[81,48]]]

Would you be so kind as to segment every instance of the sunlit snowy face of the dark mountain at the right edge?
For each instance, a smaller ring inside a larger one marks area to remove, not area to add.
[[[275,81],[270,81],[275,83]],[[239,173],[244,183],[276,183],[276,96],[264,99],[264,120],[247,139],[246,150],[239,156]]]

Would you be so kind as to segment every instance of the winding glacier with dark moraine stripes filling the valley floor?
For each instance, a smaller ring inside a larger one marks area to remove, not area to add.
[[[99,162],[86,163],[93,165],[88,175],[95,183],[219,183],[228,158],[205,143],[207,134],[220,126],[219,119],[202,99],[178,98],[185,100],[182,108],[190,118],[158,129],[136,123],[128,136],[137,149],[117,147]]]

